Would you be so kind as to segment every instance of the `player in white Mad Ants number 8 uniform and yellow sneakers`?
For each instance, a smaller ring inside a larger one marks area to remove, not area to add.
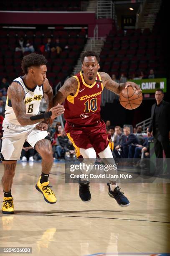
[[[36,189],[48,203],[55,203],[56,196],[49,186],[48,176],[53,165],[51,141],[47,131],[40,131],[36,124],[63,114],[61,105],[53,107],[53,90],[46,78],[44,56],[29,54],[22,60],[24,76],[16,78],[9,86],[3,121],[1,159],[4,165],[2,186],[4,191],[3,213],[14,213],[11,187],[17,160],[20,159],[24,141],[28,141],[42,157],[42,174]],[[45,97],[47,112],[38,115],[42,97]],[[41,129],[42,130],[42,129]]]

